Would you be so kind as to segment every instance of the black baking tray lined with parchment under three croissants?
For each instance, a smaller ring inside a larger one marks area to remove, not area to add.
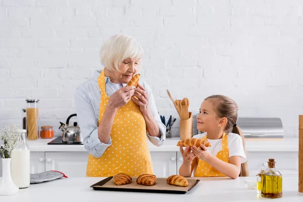
[[[166,182],[167,178],[157,178],[157,182],[153,186],[144,186],[137,184],[137,177],[132,178],[132,182],[129,184],[124,184],[117,186],[113,177],[108,177],[101,180],[90,187],[94,190],[104,190],[104,191],[130,191],[130,192],[152,192],[152,193],[178,193],[184,194],[191,190],[200,180],[196,178],[186,178],[188,181],[187,187],[174,186]]]

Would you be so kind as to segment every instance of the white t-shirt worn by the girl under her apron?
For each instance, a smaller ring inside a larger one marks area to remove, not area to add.
[[[201,139],[205,137],[205,135],[207,135],[207,133],[197,134],[194,135],[192,138]],[[240,156],[241,164],[245,163],[247,161],[247,158],[244,152],[242,138],[240,137],[240,135],[230,132],[227,134],[227,139],[228,139],[229,158],[232,156]],[[208,138],[207,141],[209,141],[212,144],[212,146],[207,147],[207,149],[215,157],[217,153],[220,150],[222,150],[222,138],[221,139]]]

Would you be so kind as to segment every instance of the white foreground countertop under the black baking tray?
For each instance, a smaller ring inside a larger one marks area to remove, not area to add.
[[[256,180],[255,177],[240,177],[236,180],[221,177],[199,178],[201,181],[186,194],[97,191],[89,187],[102,179],[104,178],[61,178],[31,184],[28,188],[19,189],[15,195],[0,196],[0,201],[273,201],[262,198],[256,190],[246,188],[244,179]],[[274,201],[303,201],[303,193],[298,192],[297,176],[283,177],[283,196]]]

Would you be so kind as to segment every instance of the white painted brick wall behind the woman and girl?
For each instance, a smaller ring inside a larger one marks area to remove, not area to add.
[[[220,93],[240,116],[280,117],[296,136],[302,8],[302,0],[0,0],[0,128],[21,124],[31,97],[41,125],[57,130],[75,112],[75,88],[102,67],[99,48],[126,33],[144,48],[141,73],[160,114],[177,116],[166,89],[188,97],[193,112]]]

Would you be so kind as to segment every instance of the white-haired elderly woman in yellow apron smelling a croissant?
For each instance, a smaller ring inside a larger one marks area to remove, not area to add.
[[[154,174],[147,137],[162,145],[166,127],[150,87],[142,79],[137,88],[127,86],[142,55],[142,47],[131,36],[112,36],[100,51],[105,68],[76,89],[78,122],[89,151],[87,177]]]

